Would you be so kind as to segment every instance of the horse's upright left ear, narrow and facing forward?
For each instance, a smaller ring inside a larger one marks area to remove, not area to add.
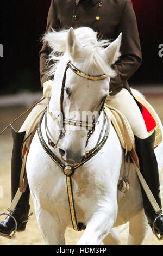
[[[73,28],[70,28],[67,35],[67,50],[72,57],[77,57],[77,53],[80,52],[81,45],[78,42]]]

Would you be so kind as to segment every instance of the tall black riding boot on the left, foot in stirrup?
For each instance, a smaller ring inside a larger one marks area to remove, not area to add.
[[[15,194],[19,187],[20,173],[22,167],[21,146],[23,143],[24,135],[26,132],[16,132],[12,127],[13,137],[13,151],[11,161],[11,201],[14,199]],[[24,231],[28,221],[29,214],[29,186],[24,192],[14,210],[11,214],[17,221],[17,231]],[[9,237],[12,231],[15,230],[14,218],[8,216],[0,223],[0,235]]]

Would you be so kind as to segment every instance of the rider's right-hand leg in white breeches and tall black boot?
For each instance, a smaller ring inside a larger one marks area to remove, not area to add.
[[[121,92],[116,95],[108,97],[107,100],[108,105],[119,109],[126,115],[135,135],[136,153],[139,157],[140,171],[151,189],[156,202],[161,208],[161,199],[159,197],[159,171],[153,149],[155,133],[151,136],[148,135],[140,109],[133,96],[126,89],[122,89]],[[142,186],[141,189],[145,214],[149,224],[153,227],[154,220],[159,214],[155,213]],[[157,218],[155,229],[163,236],[163,217]]]

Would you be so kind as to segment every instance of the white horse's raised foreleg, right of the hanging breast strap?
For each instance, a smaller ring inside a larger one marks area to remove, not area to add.
[[[115,210],[114,210],[115,209]],[[86,229],[77,245],[100,245],[114,225],[117,207],[101,208],[89,217]]]

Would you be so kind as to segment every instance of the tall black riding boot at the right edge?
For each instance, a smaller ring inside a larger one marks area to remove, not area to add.
[[[146,180],[156,202],[161,208],[161,199],[160,195],[160,181],[159,181],[159,171],[158,163],[156,161],[154,153],[154,140],[155,140],[155,131],[151,136],[146,139],[140,139],[135,136],[136,143],[136,153],[139,157],[140,162],[140,172],[143,175],[143,178]],[[145,191],[141,186],[143,205],[145,209],[145,214],[148,219],[148,223],[151,228],[154,228],[154,233],[160,234],[163,236],[163,216],[160,215],[161,212],[156,213],[149,202]],[[153,226],[154,224],[154,226]]]

